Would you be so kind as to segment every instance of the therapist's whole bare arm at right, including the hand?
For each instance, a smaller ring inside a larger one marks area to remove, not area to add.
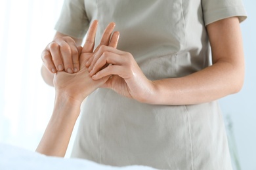
[[[244,52],[238,18],[207,25],[213,65],[181,78],[148,80],[129,52],[101,46],[90,59],[94,80],[113,75],[104,88],[154,105],[193,105],[239,92],[244,82]],[[110,64],[101,69],[106,63]]]

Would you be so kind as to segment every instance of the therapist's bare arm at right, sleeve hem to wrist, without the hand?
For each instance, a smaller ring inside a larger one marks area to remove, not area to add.
[[[207,25],[213,65],[182,78],[154,82],[155,104],[197,104],[239,92],[244,83],[244,52],[238,18]]]

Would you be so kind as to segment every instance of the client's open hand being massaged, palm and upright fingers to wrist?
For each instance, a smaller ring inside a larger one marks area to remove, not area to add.
[[[102,84],[108,80],[109,76],[100,78],[99,80],[93,80],[91,76],[89,76],[87,67],[85,67],[87,61],[93,57],[100,46],[107,45],[114,48],[117,46],[119,33],[114,32],[112,35],[115,24],[110,23],[102,35],[100,45],[96,48],[95,52],[93,52],[97,25],[98,22],[96,21],[91,24],[83,49],[79,49],[79,63],[81,69],[74,74],[60,71],[54,76],[53,83],[56,90],[56,95],[60,95],[61,93],[61,95],[64,95],[64,97],[78,101],[81,104],[87,95],[96,90],[96,88],[102,86]]]

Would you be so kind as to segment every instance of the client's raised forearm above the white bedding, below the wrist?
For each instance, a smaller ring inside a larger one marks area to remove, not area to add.
[[[36,151],[48,156],[64,157],[79,112],[79,103],[57,95],[53,115]]]

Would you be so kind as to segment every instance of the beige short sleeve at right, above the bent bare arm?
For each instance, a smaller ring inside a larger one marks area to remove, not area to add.
[[[247,18],[242,0],[202,0],[202,9],[205,25],[232,16],[240,22]]]

